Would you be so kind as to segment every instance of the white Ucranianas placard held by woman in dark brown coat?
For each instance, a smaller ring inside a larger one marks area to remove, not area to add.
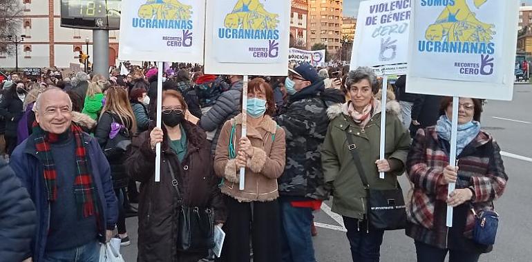
[[[203,63],[205,0],[128,0],[120,20],[120,61]]]

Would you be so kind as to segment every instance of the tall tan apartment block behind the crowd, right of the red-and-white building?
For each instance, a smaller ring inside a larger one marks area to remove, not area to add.
[[[349,0],[348,0],[349,1]],[[333,59],[341,52],[343,0],[308,0],[309,46],[325,43]]]

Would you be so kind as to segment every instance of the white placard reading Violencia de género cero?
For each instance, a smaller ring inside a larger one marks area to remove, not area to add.
[[[351,68],[394,66],[385,74],[406,72],[410,0],[362,1],[355,30]],[[399,66],[400,65],[400,66]],[[377,74],[381,74],[377,70]]]

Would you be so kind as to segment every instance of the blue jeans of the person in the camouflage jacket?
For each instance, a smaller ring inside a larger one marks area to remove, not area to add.
[[[281,256],[283,262],[315,262],[312,245],[312,208],[294,208],[290,201],[281,207]]]

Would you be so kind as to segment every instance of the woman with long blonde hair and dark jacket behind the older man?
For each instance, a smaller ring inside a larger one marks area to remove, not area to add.
[[[111,177],[118,206],[118,234],[122,239],[122,245],[129,245],[129,237],[126,232],[126,217],[124,212],[125,188],[129,183],[129,176],[124,167],[126,160],[125,150],[131,144],[131,138],[137,131],[135,115],[127,96],[127,91],[120,86],[113,86],[105,92],[105,105],[99,116],[98,125],[94,136],[103,148],[107,161],[111,166]]]

